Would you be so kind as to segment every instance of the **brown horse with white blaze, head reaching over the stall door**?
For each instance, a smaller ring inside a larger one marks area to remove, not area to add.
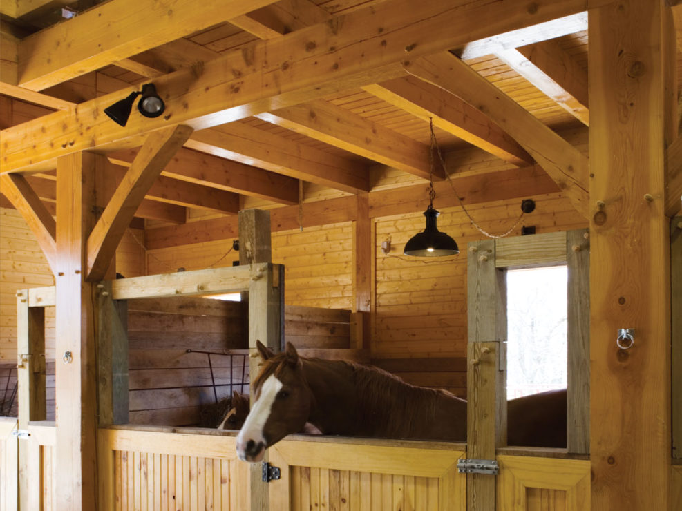
[[[258,349],[264,363],[237,440],[241,459],[259,461],[265,448],[305,423],[328,435],[466,441],[466,401],[449,392],[410,385],[377,367],[299,357],[290,343],[282,354],[260,343]],[[509,445],[565,447],[565,390],[509,401],[508,410]]]

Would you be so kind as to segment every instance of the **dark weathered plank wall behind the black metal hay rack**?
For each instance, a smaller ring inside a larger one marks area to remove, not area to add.
[[[244,306],[207,298],[129,300],[130,422],[195,425],[202,405],[248,382]],[[230,358],[200,351],[244,350]],[[214,394],[211,369],[216,392]],[[234,384],[234,385],[233,385]],[[248,385],[245,386],[248,389]]]

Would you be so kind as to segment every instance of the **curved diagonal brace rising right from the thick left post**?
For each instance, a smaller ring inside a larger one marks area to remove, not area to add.
[[[86,280],[102,280],[127,226],[162,169],[191,135],[173,126],[149,135],[97,220],[87,243]]]

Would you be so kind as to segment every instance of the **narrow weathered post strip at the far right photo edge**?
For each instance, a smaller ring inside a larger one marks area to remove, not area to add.
[[[672,457],[682,459],[682,216],[670,224],[672,282]]]

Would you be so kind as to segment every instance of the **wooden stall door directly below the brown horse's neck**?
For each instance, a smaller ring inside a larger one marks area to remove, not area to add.
[[[285,439],[269,449],[281,479],[271,510],[466,510],[464,445],[357,438]]]

